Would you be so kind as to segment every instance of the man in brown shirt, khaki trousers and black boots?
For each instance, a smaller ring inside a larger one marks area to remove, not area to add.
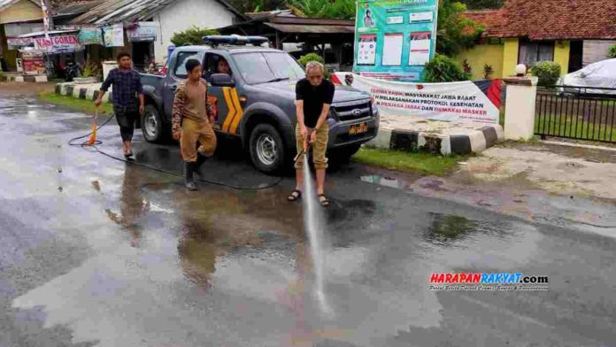
[[[180,83],[173,99],[173,139],[180,140],[186,189],[196,190],[193,173],[214,154],[216,134],[201,63],[189,59],[185,66],[188,77]],[[201,144],[198,150],[197,142]]]

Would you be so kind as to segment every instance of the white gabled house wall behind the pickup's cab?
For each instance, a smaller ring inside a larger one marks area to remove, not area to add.
[[[160,22],[154,55],[158,63],[165,62],[167,47],[176,31],[197,27],[227,27],[233,24],[235,14],[215,0],[177,0],[161,11],[154,20]]]

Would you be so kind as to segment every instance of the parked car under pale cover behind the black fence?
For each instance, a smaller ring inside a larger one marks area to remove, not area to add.
[[[559,90],[566,94],[616,96],[616,58],[599,61],[560,78]],[[571,88],[574,87],[574,88]]]

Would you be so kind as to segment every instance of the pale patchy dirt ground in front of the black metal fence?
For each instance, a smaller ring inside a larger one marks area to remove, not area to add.
[[[613,236],[616,151],[545,143],[504,143],[462,163],[447,177],[409,186],[534,222]]]

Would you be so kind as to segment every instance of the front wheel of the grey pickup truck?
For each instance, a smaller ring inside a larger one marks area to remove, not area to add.
[[[275,127],[260,124],[250,133],[252,164],[266,174],[281,172],[285,165],[285,148]]]

